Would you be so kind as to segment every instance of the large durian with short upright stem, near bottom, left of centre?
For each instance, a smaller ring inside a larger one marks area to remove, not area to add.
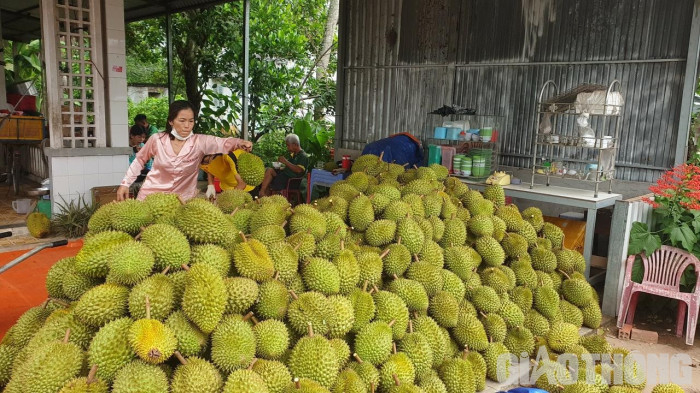
[[[289,371],[330,388],[338,376],[338,358],[326,338],[315,335],[311,324],[308,329],[309,335],[299,339],[289,355]]]

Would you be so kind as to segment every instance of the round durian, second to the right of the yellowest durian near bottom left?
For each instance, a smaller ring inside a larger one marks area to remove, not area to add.
[[[247,322],[252,313],[241,318],[225,317],[211,335],[211,360],[223,372],[250,366],[256,352],[255,333]]]

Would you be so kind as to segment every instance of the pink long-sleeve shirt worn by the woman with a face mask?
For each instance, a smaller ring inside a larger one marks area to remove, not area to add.
[[[195,134],[185,142],[180,154],[175,154],[169,134],[155,134],[136,153],[121,185],[129,187],[146,162],[153,158],[153,167],[141,186],[138,199],[143,200],[154,192],[172,192],[186,201],[197,195],[197,173],[202,158],[207,154],[226,154],[240,148],[241,142],[237,138]]]

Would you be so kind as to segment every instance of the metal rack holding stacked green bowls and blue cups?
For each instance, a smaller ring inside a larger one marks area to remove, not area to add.
[[[493,127],[494,130],[498,132],[498,136],[495,142],[481,142],[481,141],[460,141],[452,139],[438,139],[438,138],[426,138],[426,143],[424,146],[428,145],[440,145],[440,146],[454,146],[457,148],[457,152],[461,152],[460,149],[490,149],[491,150],[491,161],[487,163],[489,173],[486,176],[474,177],[474,176],[459,176],[464,177],[469,180],[484,180],[488,178],[493,171],[498,170],[498,163],[501,153],[501,140],[503,140],[503,116],[499,115],[450,115],[450,120],[466,119],[469,120],[469,127],[472,129]]]

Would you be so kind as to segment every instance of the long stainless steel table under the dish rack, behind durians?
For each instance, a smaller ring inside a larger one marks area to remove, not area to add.
[[[469,188],[483,191],[485,183],[475,182],[461,178],[463,183]],[[586,259],[586,278],[589,278],[591,270],[591,255],[593,254],[593,232],[595,230],[595,220],[598,209],[615,205],[615,201],[622,199],[621,194],[608,194],[601,192],[597,198],[593,197],[593,192],[576,188],[566,188],[557,186],[546,186],[535,184],[530,188],[530,184],[510,184],[503,186],[506,196],[513,198],[528,199],[532,201],[553,203],[557,205],[578,207],[588,210],[586,219],[586,239],[583,244],[583,257]]]

